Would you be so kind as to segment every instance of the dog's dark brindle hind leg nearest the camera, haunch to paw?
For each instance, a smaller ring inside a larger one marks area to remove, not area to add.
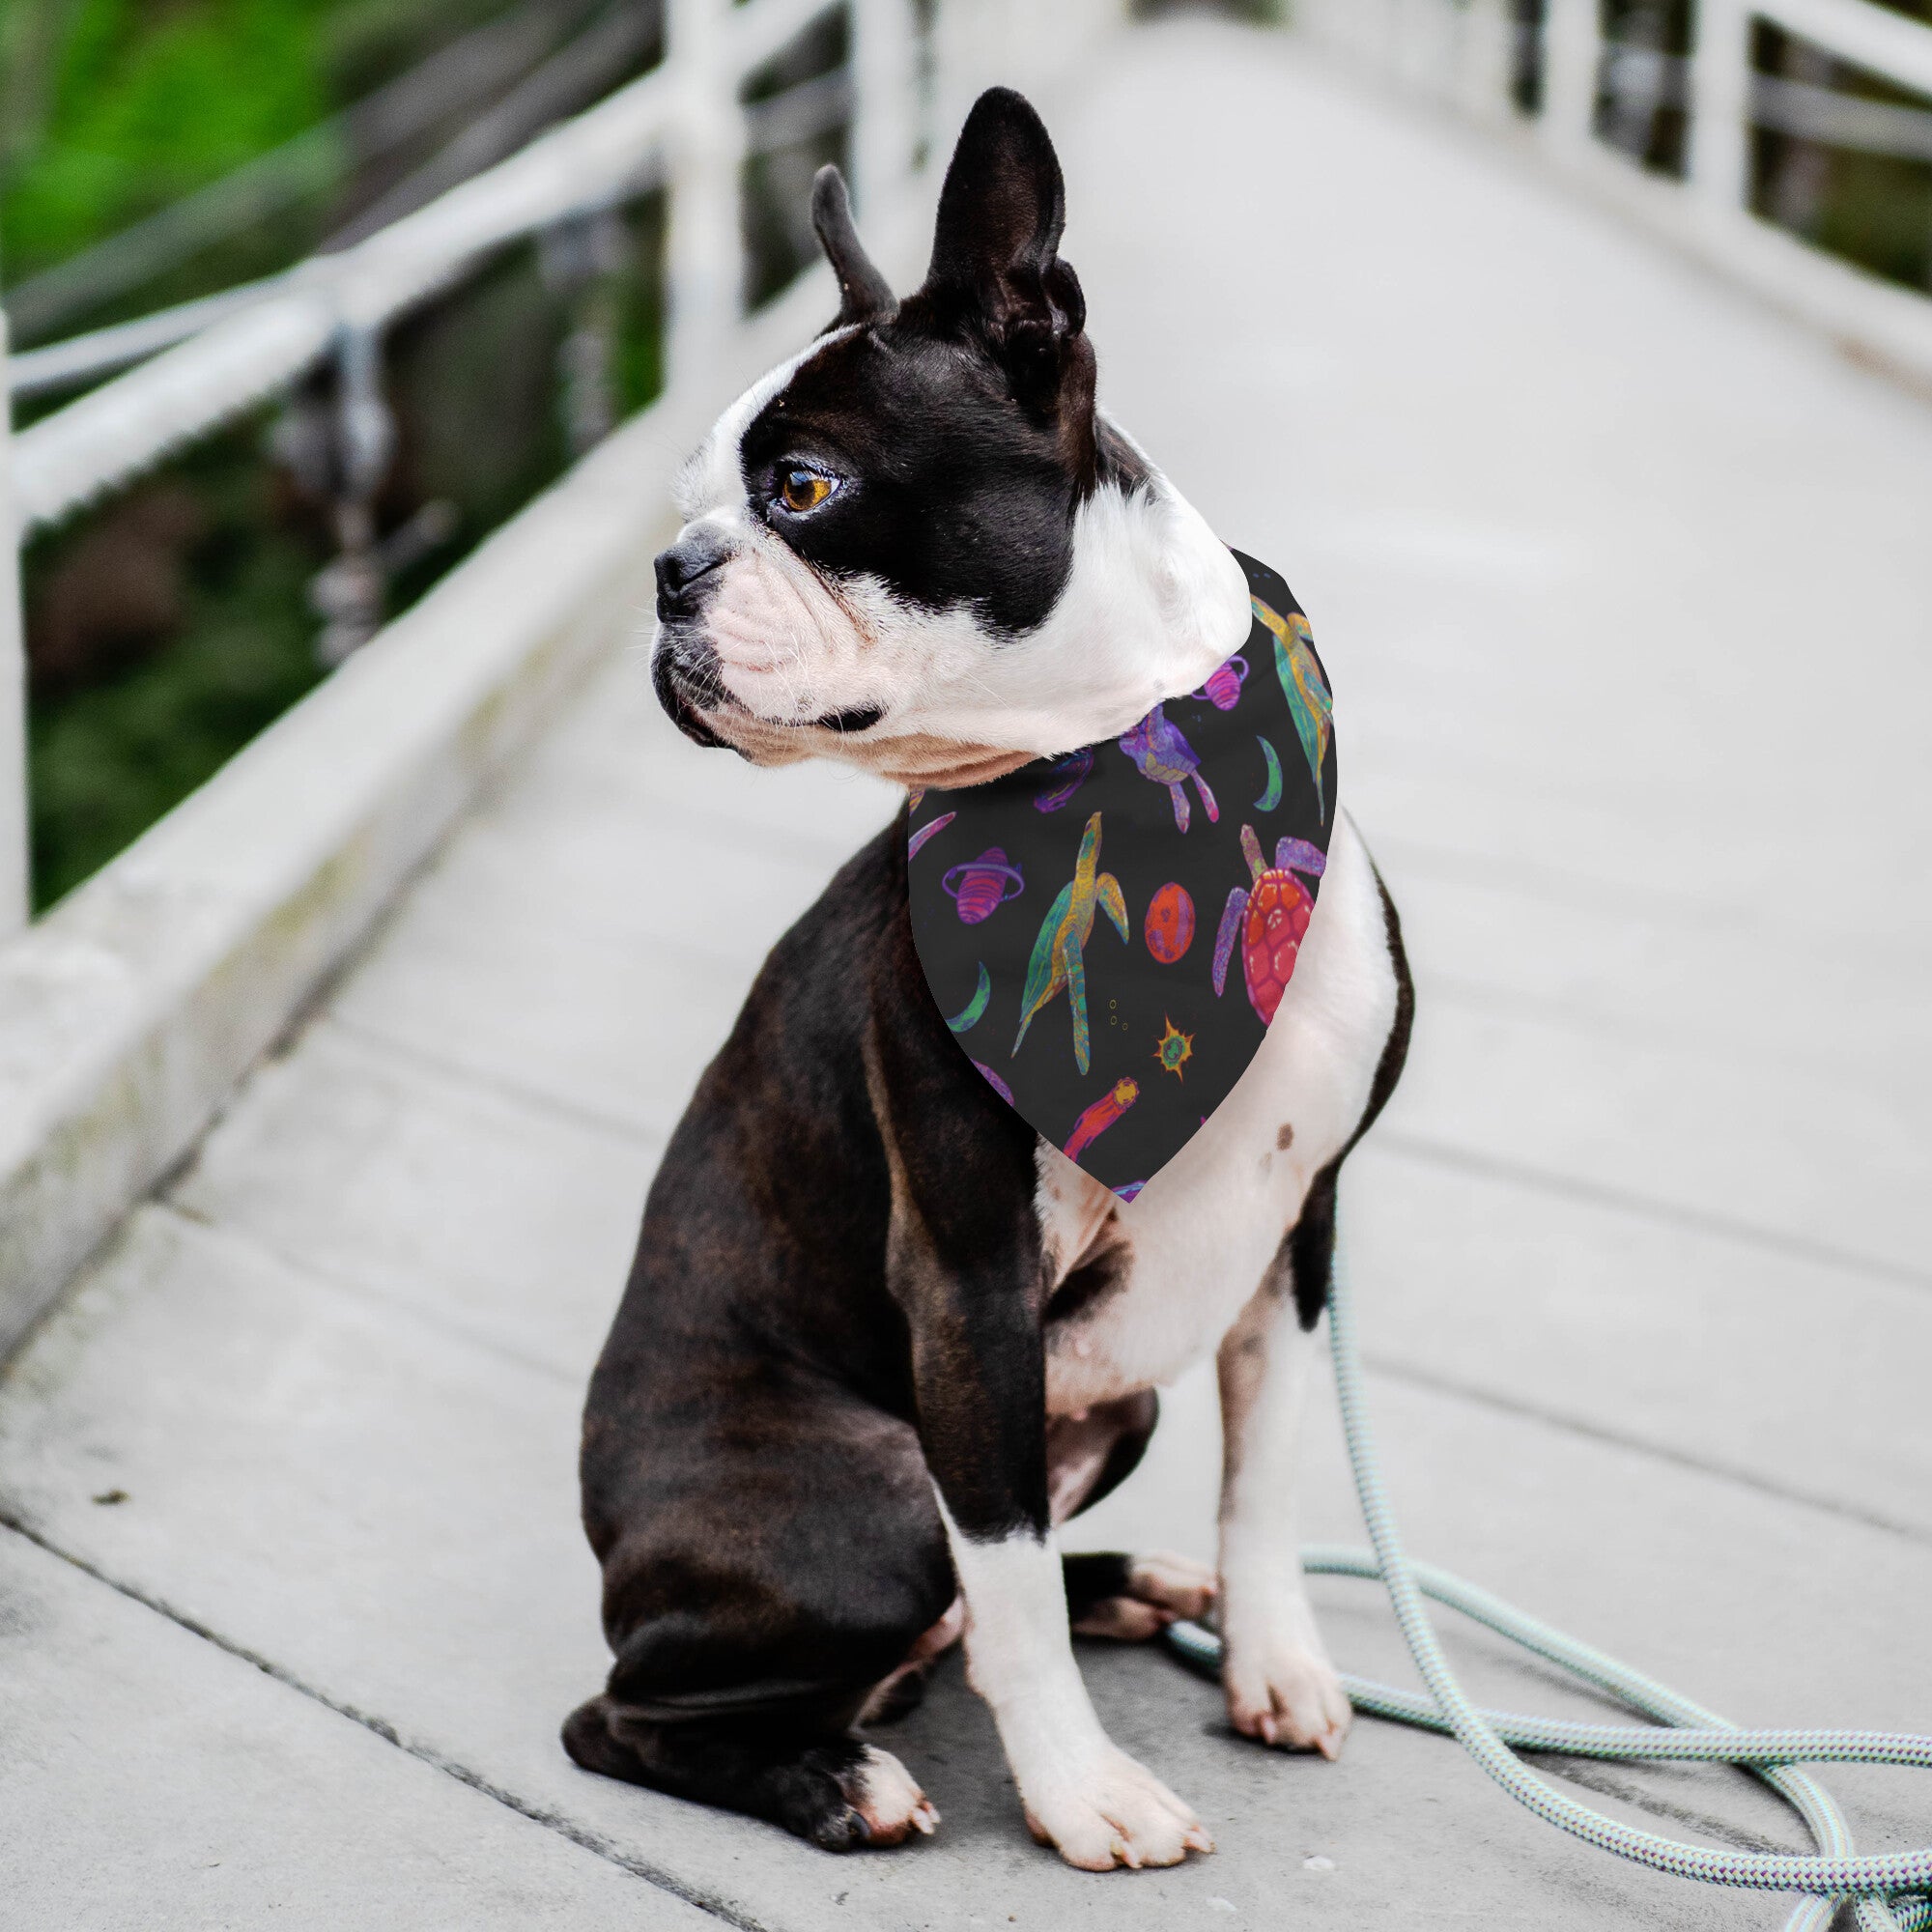
[[[605,1406],[593,1385],[585,1522],[616,1658],[564,1748],[827,1851],[931,1832],[912,1774],[852,1735],[954,1598],[910,1424],[759,1372],[713,1391],[728,1432],[612,1426],[641,1379],[618,1362]]]

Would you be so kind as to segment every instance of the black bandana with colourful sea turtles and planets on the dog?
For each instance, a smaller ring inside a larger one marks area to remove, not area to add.
[[[1246,1072],[1335,823],[1327,676],[1287,583],[1198,692],[991,784],[914,794],[912,939],[995,1094],[1122,1200]]]

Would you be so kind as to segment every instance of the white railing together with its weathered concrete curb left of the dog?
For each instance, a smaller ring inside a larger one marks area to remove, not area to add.
[[[937,166],[918,180],[914,151],[943,162],[978,87],[1051,89],[1055,71],[1124,15],[1121,0],[1055,0],[1051,12],[1037,0],[952,0],[925,35],[918,21],[931,15],[914,0],[831,0],[850,10],[844,87],[794,89],[782,108],[746,114],[746,73],[825,4],[672,0],[657,77],[504,162],[489,187],[471,184],[371,238],[357,257],[365,278],[303,286],[299,301],[276,290],[220,323],[220,354],[211,328],[17,439],[33,514],[58,514],[315,355],[342,354],[354,375],[340,344],[365,355],[381,332],[346,325],[442,286],[462,272],[464,249],[558,209],[595,211],[595,197],[639,178],[667,189],[665,392],[133,846],[0,943],[0,1356],[193,1148],[504,759],[593,667],[636,643],[651,553],[672,527],[676,464],[721,402],[810,340],[837,303],[819,267],[757,315],[742,313],[742,156],[773,128],[850,112],[867,242],[906,286],[937,191]],[[408,247],[404,234],[415,238]],[[325,301],[336,307],[321,330],[309,303]],[[114,437],[100,429],[108,392]],[[0,439],[0,497],[8,454]],[[8,516],[0,508],[0,533]],[[12,665],[0,732],[17,746],[12,568],[14,547],[0,543],[0,655]],[[0,838],[14,852],[21,796],[0,748]]]

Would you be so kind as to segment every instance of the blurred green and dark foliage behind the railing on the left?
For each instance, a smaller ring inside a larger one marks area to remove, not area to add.
[[[66,261],[263,153],[303,137],[313,147],[328,116],[510,4],[0,0],[4,282]],[[585,10],[558,12],[568,21]],[[315,191],[301,207],[89,321],[305,253],[327,232],[354,164],[321,147],[305,166]],[[624,213],[618,259],[593,288],[556,282],[541,247],[520,245],[394,325],[384,388],[398,456],[381,526],[400,529],[435,504],[452,535],[396,570],[390,614],[568,466],[560,371],[572,330],[591,315],[605,330],[607,421],[657,394],[661,253],[663,199],[647,195]],[[321,371],[288,408],[327,421],[330,394],[332,375]],[[269,458],[276,417],[278,408],[263,410],[203,439],[27,547],[39,906],[129,844],[323,676],[309,591],[332,554],[328,504]]]

